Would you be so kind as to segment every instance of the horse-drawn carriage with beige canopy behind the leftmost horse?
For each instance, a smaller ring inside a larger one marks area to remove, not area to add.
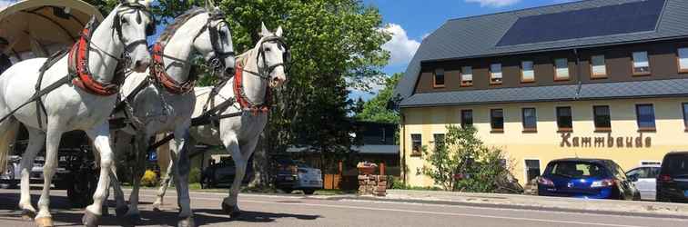
[[[92,16],[97,20],[103,19],[96,7],[79,0],[25,0],[4,4],[7,5],[0,5],[0,37],[9,41],[4,54],[13,63],[47,57],[69,48]],[[19,183],[20,155],[28,143],[25,126],[20,127],[15,143],[10,146],[11,158],[5,173],[0,176],[2,187],[14,187]],[[59,167],[53,179],[56,188],[66,189],[70,201],[80,207],[92,201],[97,182],[96,159],[89,141],[81,131],[63,135]],[[32,183],[43,182],[45,156],[43,149],[36,157],[30,173]]]

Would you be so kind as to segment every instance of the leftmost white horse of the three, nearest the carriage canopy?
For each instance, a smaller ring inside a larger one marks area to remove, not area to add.
[[[40,210],[35,215],[38,226],[53,225],[49,211],[50,184],[56,173],[57,149],[62,133],[73,130],[85,131],[100,156],[100,178],[94,202],[86,207],[82,219],[87,226],[98,224],[110,183],[108,171],[113,162],[107,119],[117,98],[116,66],[126,63],[125,67],[143,72],[150,63],[147,35],[155,27],[149,5],[149,0],[121,0],[95,30],[89,23],[90,28],[85,29],[85,35],[72,49],[74,52],[47,67],[45,74],[39,69],[46,58],[35,58],[15,64],[0,76],[0,116],[6,116],[0,122],[0,159],[5,159],[9,144],[14,143],[19,123],[24,123],[29,133],[29,144],[21,163],[19,201],[26,216],[35,214],[29,192],[29,173],[35,154],[46,144],[43,192],[38,201]],[[68,64],[69,61],[75,64]],[[76,74],[74,80],[66,77],[72,73]],[[35,88],[37,82],[40,86]],[[36,90],[46,87],[54,90],[35,98]]]

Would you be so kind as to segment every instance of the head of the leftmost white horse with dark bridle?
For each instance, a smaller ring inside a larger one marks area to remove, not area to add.
[[[112,11],[113,29],[125,47],[126,65],[136,72],[145,72],[151,58],[147,36],[156,30],[155,17],[150,13],[151,0],[120,0]]]

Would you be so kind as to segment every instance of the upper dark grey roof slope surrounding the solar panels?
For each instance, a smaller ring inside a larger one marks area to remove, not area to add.
[[[422,44],[420,44],[420,48],[413,56],[406,74],[397,85],[395,94],[399,94],[401,98],[407,98],[413,94],[416,81],[420,75],[420,63],[422,62],[688,37],[688,1],[667,0],[657,25],[657,30],[653,32],[595,36],[537,44],[496,46],[501,37],[511,28],[511,25],[523,16],[554,14],[638,1],[657,0],[589,0],[449,20],[434,33],[426,37]]]

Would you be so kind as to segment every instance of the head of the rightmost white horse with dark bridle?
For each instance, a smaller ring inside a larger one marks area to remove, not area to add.
[[[264,69],[269,76],[271,87],[287,83],[287,64],[291,58],[288,45],[282,37],[282,26],[271,33],[265,24],[261,25],[258,49],[258,68]]]

